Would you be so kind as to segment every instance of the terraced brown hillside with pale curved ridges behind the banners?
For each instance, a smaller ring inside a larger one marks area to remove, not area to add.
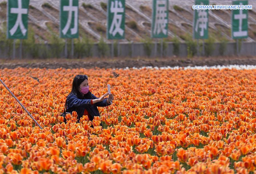
[[[98,41],[101,35],[106,38],[107,12],[105,0],[79,0],[79,35]],[[194,1],[169,1],[169,31],[167,41],[176,35],[182,42],[192,36]],[[232,1],[210,0],[209,4],[231,4]],[[249,0],[249,5],[255,5]],[[253,5],[253,7],[255,7]],[[29,30],[35,33],[36,42],[50,42],[51,36],[58,36],[59,0],[30,0]],[[152,1],[126,0],[126,34],[122,41],[138,42],[150,37]],[[0,4],[0,29],[5,34],[6,1]],[[246,41],[256,41],[256,11],[248,12],[249,37]],[[209,34],[216,41],[226,38],[232,41],[231,10],[209,10]],[[106,39],[105,39],[106,41]]]

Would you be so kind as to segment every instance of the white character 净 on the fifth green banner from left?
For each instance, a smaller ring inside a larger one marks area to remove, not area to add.
[[[204,5],[201,3],[201,5]],[[200,31],[200,36],[204,36],[204,30],[207,29],[207,12],[206,10],[197,10],[198,11],[198,18],[196,19],[196,26],[195,26],[195,31],[198,32],[198,28],[201,29]],[[200,23],[200,24],[199,24]]]

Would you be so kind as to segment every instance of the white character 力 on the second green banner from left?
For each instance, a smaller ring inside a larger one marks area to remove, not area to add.
[[[67,18],[67,23],[65,27],[62,30],[62,33],[65,35],[71,25],[72,21],[72,12],[75,12],[74,16],[74,27],[71,28],[71,34],[76,34],[78,31],[78,25],[77,25],[77,19],[78,19],[78,7],[73,6],[73,0],[69,0],[69,5],[68,6],[63,6],[63,11],[68,11],[68,18]]]

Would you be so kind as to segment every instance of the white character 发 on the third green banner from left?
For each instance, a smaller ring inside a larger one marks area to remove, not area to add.
[[[122,23],[122,14],[117,14],[124,12],[122,2],[117,0],[115,2],[111,2],[110,12],[114,13],[114,17],[109,29],[109,33],[113,36],[115,36],[116,33],[119,33],[122,36],[124,34],[124,30],[120,28]]]

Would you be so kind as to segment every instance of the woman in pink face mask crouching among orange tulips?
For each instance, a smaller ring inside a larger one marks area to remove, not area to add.
[[[67,111],[77,112],[77,122],[83,115],[88,115],[89,119],[93,121],[94,116],[100,116],[98,107],[106,107],[112,104],[114,99],[112,94],[104,94],[101,97],[94,96],[89,90],[89,82],[87,75],[76,75],[73,79],[72,90],[67,96]],[[102,126],[102,124],[101,124]],[[93,126],[92,126],[93,127]]]

